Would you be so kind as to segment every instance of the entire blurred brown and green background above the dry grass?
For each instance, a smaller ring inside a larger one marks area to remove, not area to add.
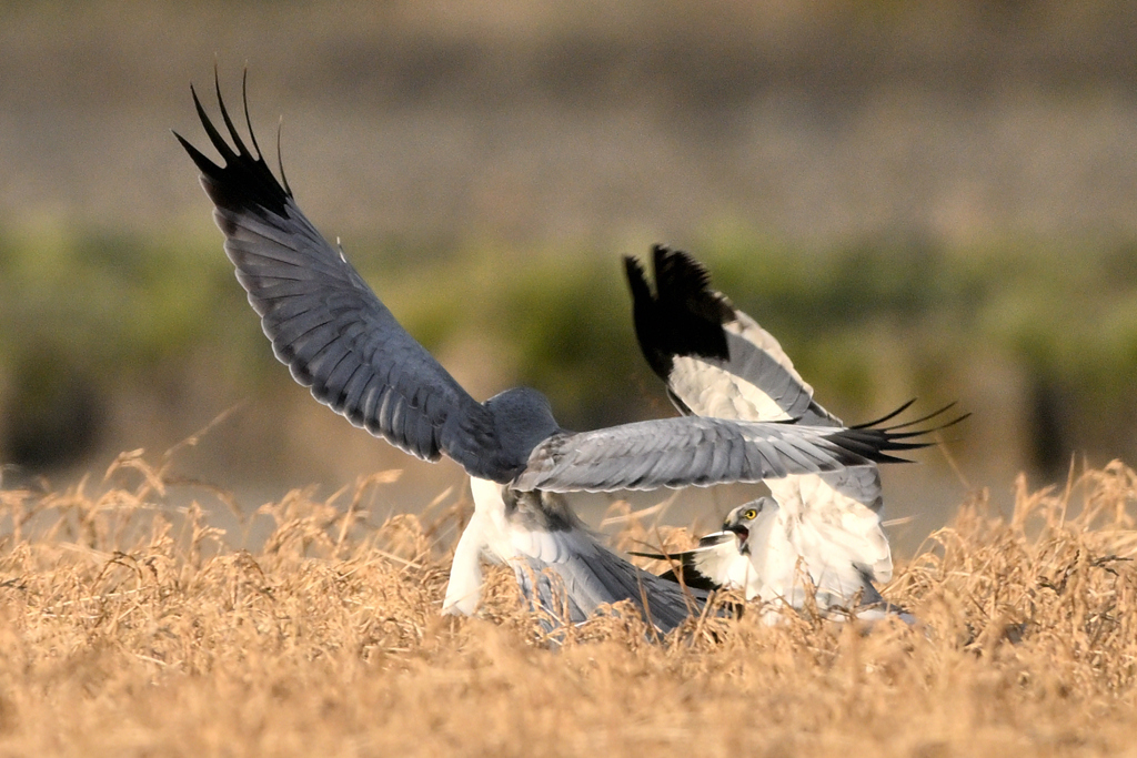
[[[232,102],[248,67],[301,207],[475,397],[529,383],[578,428],[671,413],[620,265],[669,242],[846,420],[974,414],[955,473],[888,474],[893,515],[1132,463],[1134,50],[1137,8],[1106,0],[2,3],[6,482],[234,403],[192,475],[460,481],[273,359],[169,133],[205,144],[214,61]]]

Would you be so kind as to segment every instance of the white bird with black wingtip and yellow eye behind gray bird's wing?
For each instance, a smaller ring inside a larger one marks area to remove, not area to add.
[[[778,341],[711,289],[698,261],[657,245],[653,268],[654,292],[639,263],[625,259],[636,333],[681,411],[844,427],[814,400],[813,389]],[[682,565],[696,574],[689,581],[704,577],[712,586],[745,589],[747,598],[778,597],[800,607],[804,583],[798,572],[804,569],[816,588],[819,606],[843,606],[860,597],[879,607],[873,582],[891,578],[893,561],[878,515],[882,500],[877,465],[790,475],[766,485],[773,500],[736,508],[723,532],[707,535],[699,548],[681,556]],[[744,519],[746,513],[753,513],[753,519]],[[747,524],[739,527],[742,520]],[[748,533],[748,540],[735,539],[732,525]]]

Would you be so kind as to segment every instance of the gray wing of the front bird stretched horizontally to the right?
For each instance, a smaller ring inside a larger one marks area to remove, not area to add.
[[[924,447],[902,441],[911,435],[702,416],[662,418],[554,434],[533,449],[511,486],[607,492],[761,482],[870,460],[899,460],[888,451]]]

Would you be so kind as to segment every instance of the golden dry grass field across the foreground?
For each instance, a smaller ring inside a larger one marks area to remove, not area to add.
[[[171,472],[130,453],[101,482],[0,490],[0,753],[1137,753],[1121,464],[1020,481],[1010,515],[963,503],[885,591],[914,630],[744,614],[654,640],[617,608],[557,644],[500,569],[482,617],[438,615],[467,503],[381,519],[376,474],[263,506],[241,549],[171,505]]]

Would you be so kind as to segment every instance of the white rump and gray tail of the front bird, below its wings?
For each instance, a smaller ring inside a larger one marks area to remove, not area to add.
[[[564,495],[481,478],[470,484],[474,514],[455,550],[443,614],[476,610],[481,557],[511,566],[522,593],[554,626],[580,624],[603,605],[630,600],[648,623],[670,632],[702,608],[705,593],[684,591],[600,544]]]

